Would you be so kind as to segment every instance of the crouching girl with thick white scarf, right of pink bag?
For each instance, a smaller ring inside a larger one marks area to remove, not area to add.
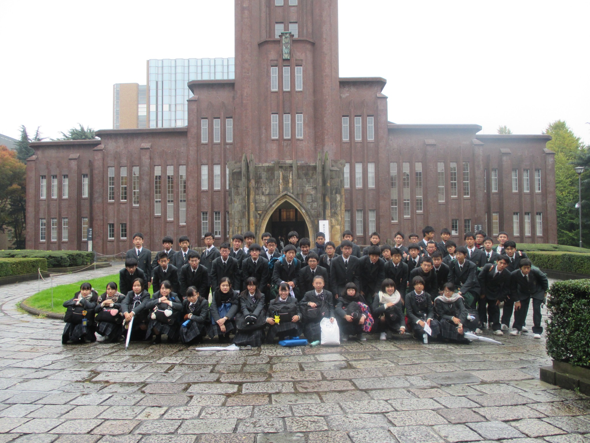
[[[381,291],[373,298],[373,317],[378,328],[380,340],[387,340],[389,333],[405,333],[404,299],[395,289],[395,282],[386,278]]]

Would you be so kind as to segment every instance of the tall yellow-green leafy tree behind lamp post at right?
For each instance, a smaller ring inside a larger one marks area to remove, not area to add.
[[[573,162],[578,159],[584,144],[563,120],[550,123],[545,130],[553,137],[547,148],[555,152],[555,197],[557,207],[557,236],[560,245],[579,245],[578,174]]]

